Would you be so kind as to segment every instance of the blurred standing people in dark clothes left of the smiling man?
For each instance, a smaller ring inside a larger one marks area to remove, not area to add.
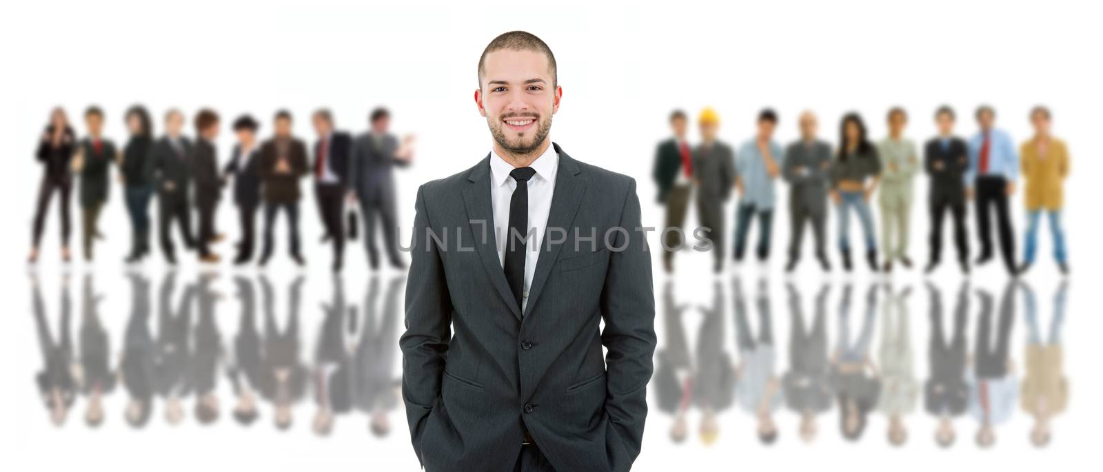
[[[389,264],[405,267],[398,255],[393,169],[411,162],[414,137],[399,139],[390,133],[390,112],[385,108],[373,110],[368,116],[368,130],[356,137],[336,129],[329,109],[314,111],[311,121],[318,138],[309,150],[292,135],[289,111],[275,114],[272,135],[264,142],[258,142],[260,124],[243,115],[229,127],[237,143],[225,165],[218,162],[216,146],[222,119],[212,109],[195,114],[195,137],[191,139],[184,136],[185,117],[181,110],[170,109],[164,114],[164,135],[154,138],[149,112],[141,106],[131,107],[124,116],[130,137],[121,148],[104,136],[103,109],[89,107],[84,120],[86,136],[78,138],[65,110],[55,108],[39,140],[36,158],[43,165],[43,175],[28,258],[32,264],[40,256],[46,213],[54,194],[60,201],[62,258],[69,260],[69,196],[74,185],[79,192],[84,258],[93,260],[95,242],[104,237],[97,222],[108,200],[114,165],[133,228],[127,262],[137,262],[151,253],[149,204],[153,195],[158,200],[157,226],[165,261],[176,264],[172,237],[175,226],[183,245],[189,250],[194,249],[201,261],[218,262],[219,256],[212,250],[212,245],[223,240],[225,235],[216,228],[215,214],[223,187],[233,181],[231,193],[240,222],[234,264],[253,260],[257,238],[255,221],[263,210],[260,266],[272,255],[275,223],[281,213],[288,219],[290,257],[302,266],[306,260],[299,242],[299,181],[310,175],[325,229],[322,240],[333,247],[334,271],[341,270],[345,239],[355,237],[357,226],[354,217],[345,217],[346,201],[350,206],[358,203],[372,268],[379,266],[381,258],[375,242],[376,226],[382,227],[383,250]]]

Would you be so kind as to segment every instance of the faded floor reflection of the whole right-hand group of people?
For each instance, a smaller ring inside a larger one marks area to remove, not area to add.
[[[811,324],[803,314],[797,287],[789,283],[786,290],[789,368],[778,373],[775,346],[780,342],[773,334],[771,298],[764,279],[753,298],[743,294],[738,278],[731,282],[736,358],[726,347],[726,297],[721,283],[715,282],[713,303],[699,307],[702,315],[694,346],[689,345],[686,331],[698,317],[686,313],[689,307],[677,300],[673,282],[666,283],[661,307],[665,340],[655,354],[652,398],[657,410],[673,417],[668,427],[671,440],[681,443],[692,435],[688,412],[696,408],[700,412],[700,440],[714,443],[720,432],[718,415],[737,405],[753,418],[762,443],[778,440],[781,428],[774,416],[782,408],[799,418],[799,436],[811,443],[820,429],[818,417],[834,406],[838,409],[839,433],[845,439],[860,439],[869,415],[879,412],[887,419],[888,442],[902,446],[908,440],[907,417],[922,398],[923,409],[936,419],[933,436],[941,447],[954,443],[956,419],[966,415],[977,423],[976,443],[982,448],[993,446],[996,429],[1007,422],[1016,406],[1034,417],[1031,443],[1043,447],[1050,442],[1052,419],[1064,411],[1069,397],[1060,339],[1068,282],[1062,282],[1053,297],[1047,332],[1039,328],[1035,293],[1025,282],[1009,281],[998,300],[987,290],[974,290],[965,282],[957,292],[950,320],[944,319],[941,291],[929,282],[925,382],[918,378],[914,368],[910,287],[901,290],[890,283],[874,283],[861,297],[846,283],[838,298],[834,346],[827,336],[832,287],[824,285],[816,294]],[[1019,294],[1028,329],[1022,374],[1010,350]],[[857,297],[864,299],[865,305],[860,329],[854,335],[850,317]],[[979,303],[972,344],[966,336],[971,300]],[[758,312],[757,331],[749,322],[749,304]],[[874,332],[878,322],[880,344],[875,351]],[[945,326],[952,328],[952,332],[945,332]]]

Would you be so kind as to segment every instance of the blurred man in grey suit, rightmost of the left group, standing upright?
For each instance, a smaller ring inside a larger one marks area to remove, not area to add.
[[[398,214],[395,211],[394,168],[409,165],[414,158],[413,137],[398,138],[387,132],[390,112],[376,108],[368,118],[371,129],[356,137],[352,154],[353,190],[360,197],[360,212],[364,219],[364,247],[372,268],[379,267],[379,256],[375,249],[375,218],[383,226],[384,250],[390,265],[406,267],[398,257]]]

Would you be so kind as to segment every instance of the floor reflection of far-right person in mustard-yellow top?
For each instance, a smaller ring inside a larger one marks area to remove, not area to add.
[[[1053,314],[1045,340],[1038,328],[1034,290],[1026,283],[1021,287],[1029,330],[1026,374],[1022,377],[1022,410],[1035,417],[1030,442],[1040,448],[1049,444],[1053,437],[1052,419],[1064,412],[1069,403],[1069,380],[1064,377],[1064,351],[1061,348],[1061,326],[1064,322],[1064,300],[1069,282],[1062,281],[1053,296]]]

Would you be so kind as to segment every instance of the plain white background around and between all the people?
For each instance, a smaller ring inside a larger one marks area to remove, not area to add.
[[[998,430],[994,450],[978,451],[972,443],[975,425],[962,419],[957,421],[957,443],[942,451],[931,440],[933,420],[922,411],[909,417],[910,441],[897,450],[887,446],[885,420],[878,416],[860,443],[845,443],[838,435],[836,410],[821,417],[821,438],[813,446],[796,439],[796,418],[786,412],[778,418],[781,440],[772,448],[763,448],[753,437],[750,417],[729,410],[721,416],[724,429],[713,447],[702,446],[696,435],[686,444],[673,447],[666,439],[668,417],[653,409],[635,470],[704,465],[792,470],[825,464],[857,470],[931,470],[997,463],[1036,469],[1072,464],[1079,453],[1094,446],[1094,423],[1101,412],[1095,398],[1103,394],[1095,368],[1091,367],[1101,354],[1094,343],[1094,333],[1101,326],[1095,319],[1099,309],[1093,293],[1100,249],[1092,240],[1100,228],[1097,212],[1092,210],[1099,201],[1096,175],[1103,171],[1095,160],[1103,153],[1097,139],[1097,87],[1103,79],[1096,57],[1103,40],[1097,19],[1097,8],[1090,2],[1071,1],[678,1],[656,6],[561,1],[6,3],[0,8],[0,155],[12,163],[3,168],[7,175],[0,189],[9,225],[3,233],[7,249],[2,253],[9,269],[2,276],[10,310],[0,331],[4,333],[2,365],[7,373],[2,418],[11,435],[3,449],[15,453],[0,454],[0,461],[30,461],[14,470],[292,470],[318,465],[417,470],[400,410],[392,414],[395,433],[385,441],[371,438],[365,431],[366,420],[361,417],[344,419],[333,438],[314,438],[307,428],[312,415],[309,403],[297,410],[297,426],[290,433],[276,432],[268,416],[243,430],[226,415],[226,396],[223,418],[215,427],[203,428],[189,418],[181,427],[168,428],[159,421],[160,410],[154,410],[154,425],[132,431],[121,419],[118,393],[108,404],[108,421],[100,430],[88,431],[84,426],[82,401],[65,427],[51,426],[33,384],[41,357],[33,337],[24,268],[41,172],[33,151],[50,108],[55,105],[66,107],[74,121],[79,121],[88,105],[104,107],[108,118],[106,135],[120,146],[126,140],[121,114],[135,103],[151,109],[159,132],[161,115],[168,107],[184,109],[191,124],[192,112],[207,106],[219,111],[224,124],[240,112],[254,114],[264,122],[263,136],[271,129],[272,112],[286,107],[296,116],[296,135],[310,142],[314,137],[308,115],[314,108],[332,108],[340,128],[361,132],[366,128],[367,112],[385,105],[394,112],[395,132],[413,132],[419,138],[415,165],[398,172],[399,222],[408,226],[413,222],[414,190],[419,183],[467,169],[488,152],[490,135],[472,99],[475,65],[491,39],[521,29],[544,39],[558,60],[564,98],[552,136],[577,159],[634,176],[640,183],[645,225],[662,224],[663,213],[653,203],[650,175],[654,146],[668,135],[666,117],[676,107],[692,117],[705,106],[715,107],[721,117],[721,139],[737,146],[751,136],[754,116],[764,106],[774,107],[781,115],[781,141],[795,139],[796,114],[811,108],[821,117],[821,135],[834,142],[843,112],[860,111],[871,138],[879,139],[886,132],[885,112],[899,105],[911,114],[907,135],[921,143],[934,133],[931,116],[941,104],[957,109],[960,135],[975,131],[973,108],[982,103],[994,105],[998,126],[1017,142],[1030,133],[1029,108],[1046,104],[1054,114],[1054,132],[1071,149],[1072,176],[1067,183],[1064,224],[1073,278],[1081,281],[1073,282],[1070,290],[1064,332],[1065,371],[1072,384],[1070,409],[1057,419],[1054,440],[1048,450],[1039,452],[1029,446],[1030,425],[1021,411]],[[692,125],[696,142],[695,119]],[[192,127],[188,129],[191,133]],[[83,125],[77,130],[83,135]],[[231,133],[224,131],[218,141],[222,162],[228,159],[232,143]],[[925,178],[919,180],[911,254],[922,264],[928,225]],[[100,219],[108,242],[99,246],[97,264],[89,267],[78,262],[69,269],[74,297],[79,293],[81,276],[94,273],[99,290],[106,294],[101,314],[113,326],[116,348],[129,312],[129,289],[121,277],[129,223],[120,195],[117,186],[111,190]],[[236,215],[226,202],[219,210],[218,226],[235,239]],[[75,256],[79,254],[77,207],[74,194]],[[1013,208],[1021,248],[1021,185]],[[39,269],[52,319],[57,317],[62,272],[55,211],[51,210],[47,219]],[[731,213],[727,212],[729,237]],[[300,219],[310,261],[302,305],[309,347],[320,321],[318,303],[329,294],[330,256],[326,247],[315,243],[321,228],[312,195],[303,201]],[[689,224],[696,224],[696,218],[692,216]],[[972,230],[972,214],[970,225]],[[1042,227],[1042,232],[1038,264],[1028,280],[1038,296],[1040,314],[1047,320],[1058,273],[1051,262],[1048,228]],[[403,239],[408,235],[408,228],[404,228]],[[832,242],[833,235],[834,227],[829,230]],[[788,222],[782,212],[774,225],[771,266],[765,270],[741,269],[747,292],[752,292],[750,280],[769,273],[780,340],[788,340],[788,311],[781,298],[786,280],[781,273],[786,240]],[[657,248],[657,238],[652,237],[651,243]],[[949,238],[946,243],[943,260],[950,261],[953,249]],[[975,239],[971,243],[975,254]],[[829,248],[837,265],[834,244]],[[228,245],[219,249],[224,257],[229,256]],[[806,259],[810,249],[805,247]],[[285,251],[277,250],[277,260],[268,273],[282,297],[282,287],[296,271],[281,257]],[[346,258],[346,290],[356,301],[363,297],[367,278],[362,250],[352,245]],[[657,289],[666,278],[657,264],[657,251],[655,256]],[[695,304],[708,302],[710,283],[705,282],[713,280],[707,270],[708,256],[694,254],[678,260],[678,298]],[[191,260],[183,265],[182,278],[194,273],[193,266]],[[147,270],[159,282],[160,261],[148,265]],[[228,276],[254,271],[224,268],[219,287],[229,296],[233,291]],[[729,277],[730,271],[721,279],[725,288],[729,287]],[[922,379],[927,375],[923,279],[915,271],[893,277],[896,285],[912,287],[912,339],[917,373]],[[792,278],[802,287],[807,315],[821,279],[811,264]],[[829,280],[835,282],[837,296],[838,282],[846,279],[835,273]],[[857,283],[856,294],[864,293],[868,278],[863,271],[853,280]],[[960,281],[952,265],[944,264],[933,280],[943,289],[943,301],[952,302]],[[974,287],[998,296],[1006,277],[997,262],[976,271],[972,280]],[[154,290],[158,287],[154,283]],[[835,300],[833,297],[832,307]],[[281,298],[277,307],[281,313]],[[860,304],[855,310],[854,315],[859,314]],[[234,333],[228,326],[236,325],[236,313],[232,298],[221,304],[219,324],[227,326],[224,339]],[[726,314],[730,335],[729,317]],[[687,320],[687,331],[695,333],[697,319]],[[829,320],[834,339],[834,313]],[[1026,333],[1021,304],[1019,320],[1013,341],[1017,360],[1021,358]],[[971,329],[971,337],[972,333]],[[733,343],[728,345],[733,348]],[[782,353],[779,368],[785,365]],[[227,387],[223,379],[219,382],[221,388]],[[690,425],[695,431],[696,417],[692,417]]]

